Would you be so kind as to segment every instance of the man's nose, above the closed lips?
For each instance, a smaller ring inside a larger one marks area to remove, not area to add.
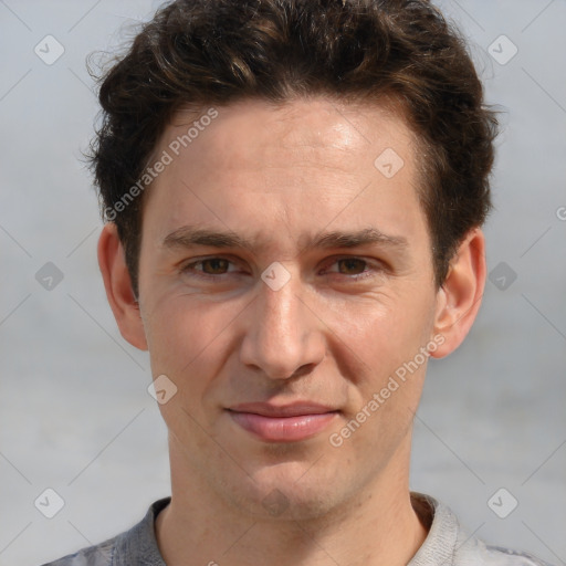
[[[270,379],[312,371],[325,356],[324,324],[303,298],[298,275],[292,275],[277,291],[263,281],[259,286],[259,296],[247,315],[242,364]]]

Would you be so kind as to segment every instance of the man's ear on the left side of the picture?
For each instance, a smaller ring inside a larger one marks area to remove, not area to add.
[[[146,350],[144,323],[132,290],[124,248],[114,222],[104,226],[98,239],[98,266],[106,289],[106,297],[122,336],[136,348]]]

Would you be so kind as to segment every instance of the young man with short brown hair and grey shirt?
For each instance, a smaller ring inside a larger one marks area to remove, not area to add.
[[[171,497],[63,565],[541,565],[409,491],[485,281],[496,120],[427,1],[185,0],[101,87],[98,261]]]

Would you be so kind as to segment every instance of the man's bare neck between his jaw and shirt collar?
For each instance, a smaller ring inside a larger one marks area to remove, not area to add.
[[[258,517],[223,502],[206,478],[187,470],[175,440],[171,444],[171,502],[156,520],[157,543],[169,565],[241,566],[269,556],[277,566],[400,566],[427,537],[410,501],[410,439],[345,504],[307,520]]]

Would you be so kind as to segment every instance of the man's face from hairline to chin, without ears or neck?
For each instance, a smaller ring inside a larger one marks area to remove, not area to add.
[[[140,313],[153,375],[177,387],[160,405],[171,458],[240,510],[315,516],[408,468],[437,304],[413,138],[384,108],[322,98],[218,112],[180,149],[198,116],[167,128],[156,156],[172,163],[144,205]],[[190,244],[195,230],[249,245]]]

